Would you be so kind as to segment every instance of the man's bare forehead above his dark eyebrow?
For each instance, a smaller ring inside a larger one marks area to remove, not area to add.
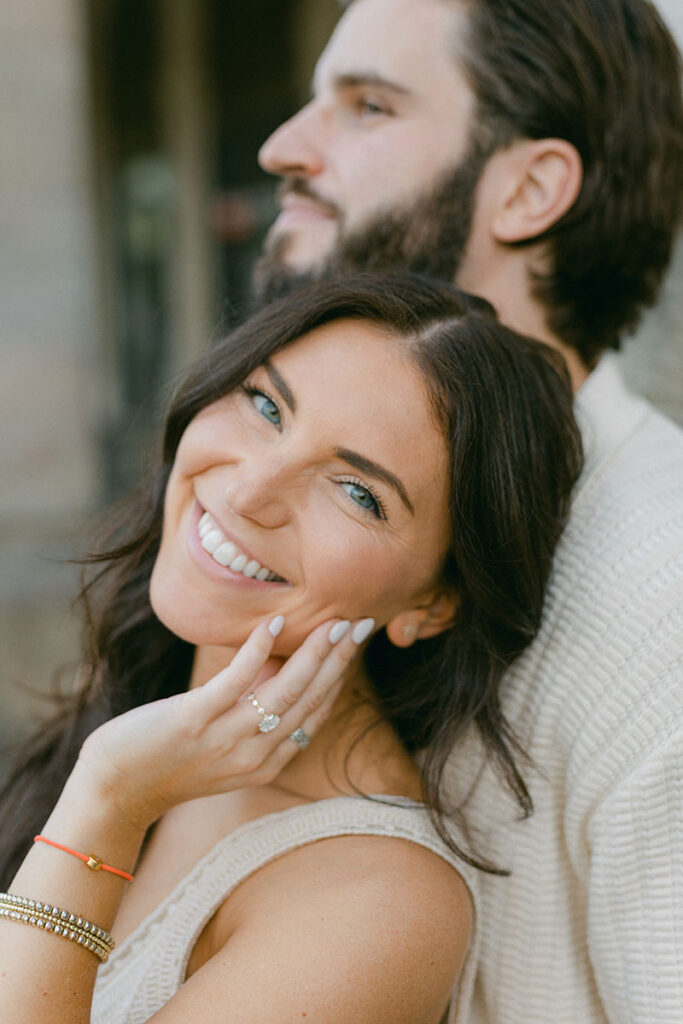
[[[354,0],[317,61],[315,90],[355,82],[411,93],[426,74],[452,86],[458,14],[444,0]]]

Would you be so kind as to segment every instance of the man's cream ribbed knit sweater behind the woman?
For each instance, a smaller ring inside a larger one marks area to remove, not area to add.
[[[683,432],[608,356],[579,394],[587,466],[539,637],[504,709],[533,759],[514,820],[488,770],[467,813],[511,878],[479,878],[459,1024],[683,1021]],[[479,764],[452,759],[454,794]]]

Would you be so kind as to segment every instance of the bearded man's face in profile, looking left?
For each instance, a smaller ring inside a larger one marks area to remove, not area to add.
[[[390,31],[387,31],[390,27]],[[313,99],[264,143],[282,212],[255,271],[261,301],[321,276],[403,267],[453,281],[487,157],[439,0],[355,0]]]

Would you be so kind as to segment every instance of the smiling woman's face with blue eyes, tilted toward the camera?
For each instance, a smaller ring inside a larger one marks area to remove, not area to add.
[[[437,588],[446,496],[445,444],[404,346],[366,322],[326,325],[185,430],[153,606],[190,643],[229,647],[282,613],[282,654],[335,616],[386,625]]]

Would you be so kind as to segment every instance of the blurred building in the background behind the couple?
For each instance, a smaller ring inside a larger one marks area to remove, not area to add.
[[[661,0],[683,36],[678,0]],[[0,751],[73,662],[77,572],[143,472],[168,382],[244,314],[274,216],[259,144],[306,98],[336,0],[0,7]],[[624,356],[683,422],[683,249]]]

